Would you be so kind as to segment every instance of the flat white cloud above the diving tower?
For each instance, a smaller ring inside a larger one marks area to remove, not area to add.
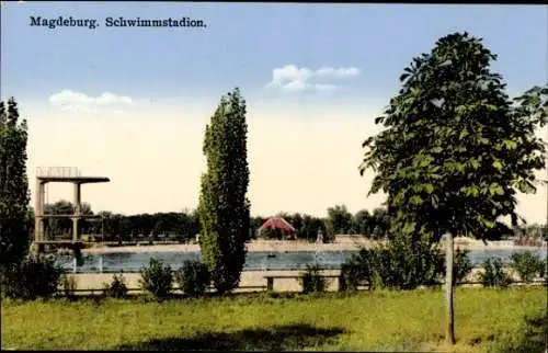
[[[111,92],[103,92],[98,96],[90,96],[85,93],[62,90],[49,96],[49,102],[57,107],[64,109],[94,109],[103,106],[129,105],[134,101],[126,95],[116,95]]]

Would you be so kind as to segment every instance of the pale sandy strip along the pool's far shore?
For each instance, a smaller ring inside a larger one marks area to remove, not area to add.
[[[293,252],[293,251],[355,251],[362,248],[370,248],[376,243],[359,237],[338,236],[334,242],[316,244],[299,240],[252,240],[248,242],[248,252]],[[481,240],[458,238],[455,239],[455,248],[467,250],[547,250],[546,241],[541,247],[515,246],[511,240],[489,241],[487,244]],[[153,246],[126,246],[126,247],[95,247],[83,249],[83,253],[104,254],[121,252],[198,252],[199,244],[153,244]]]

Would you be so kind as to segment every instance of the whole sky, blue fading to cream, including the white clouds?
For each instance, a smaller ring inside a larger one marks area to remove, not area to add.
[[[30,16],[100,26],[49,30]],[[189,16],[207,27],[106,27],[109,16]],[[362,143],[379,129],[374,118],[403,68],[439,37],[484,38],[510,95],[548,81],[540,5],[9,2],[1,20],[1,95],[15,96],[28,121],[32,200],[36,167],[75,166],[112,180],[84,187],[94,210],[194,208],[204,126],[236,86],[249,109],[252,214],[321,216],[384,201],[366,196]],[[69,186],[50,185],[48,201],[70,200]],[[529,221],[546,220],[547,191],[518,197]]]

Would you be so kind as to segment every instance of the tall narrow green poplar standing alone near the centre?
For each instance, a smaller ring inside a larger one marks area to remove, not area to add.
[[[238,287],[250,238],[247,130],[246,101],[237,88],[221,98],[204,139],[199,247],[218,293]]]

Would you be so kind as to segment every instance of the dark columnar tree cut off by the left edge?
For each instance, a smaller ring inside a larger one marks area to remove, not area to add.
[[[28,251],[26,119],[13,98],[0,102],[0,267],[18,265]]]

